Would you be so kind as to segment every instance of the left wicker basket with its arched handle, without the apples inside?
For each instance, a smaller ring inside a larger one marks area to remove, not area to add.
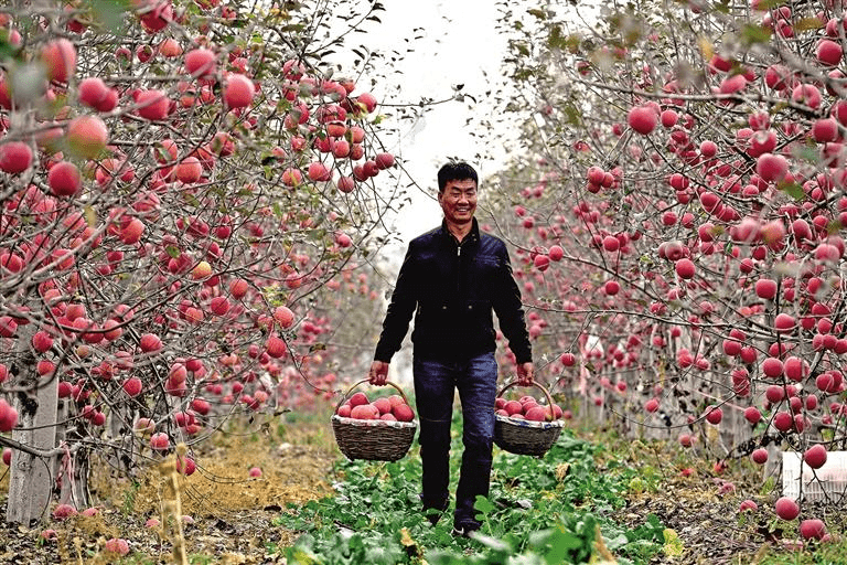
[[[368,382],[367,379],[357,382],[344,394],[335,406],[335,412],[350,397],[358,385]],[[408,404],[406,395],[399,386],[387,382],[397,388],[403,399]],[[368,461],[396,461],[401,459],[415,439],[417,420],[412,422],[386,422],[383,419],[355,419],[344,418],[334,414],[331,418],[332,431],[335,443],[344,456],[350,459],[365,459]]]

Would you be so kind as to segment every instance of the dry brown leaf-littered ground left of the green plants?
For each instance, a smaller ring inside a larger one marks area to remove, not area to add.
[[[277,562],[268,556],[267,544],[290,545],[296,534],[271,520],[289,502],[318,499],[331,490],[326,480],[337,451],[329,424],[266,422],[243,427],[244,431],[227,433],[214,446],[202,447],[195,454],[197,470],[179,477],[185,553],[196,563]],[[261,470],[260,477],[250,477],[254,467]],[[4,515],[8,468],[0,468],[0,473]],[[111,563],[116,556],[105,551],[111,537],[127,540],[132,551],[147,556],[138,563],[173,563],[175,529],[162,513],[162,502],[174,499],[167,489],[168,477],[149,468],[133,484],[105,466],[97,467],[92,480],[96,514],[34,529],[0,523],[4,542],[0,564]],[[45,540],[44,532],[51,530]]]

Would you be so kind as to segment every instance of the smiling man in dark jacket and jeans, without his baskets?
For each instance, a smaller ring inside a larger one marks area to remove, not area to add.
[[[454,391],[462,404],[462,466],[453,533],[480,529],[473,504],[487,497],[494,437],[497,364],[492,311],[517,361],[522,385],[533,382],[533,360],[521,290],[505,244],[480,232],[476,171],[449,162],[438,171],[440,227],[411,241],[376,345],[369,382],[384,385],[415,312],[412,372],[424,467],[421,501],[435,524],[449,505],[450,424]]]

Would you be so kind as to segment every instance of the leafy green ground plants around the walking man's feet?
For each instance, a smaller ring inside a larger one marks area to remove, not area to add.
[[[454,429],[453,484],[461,454],[461,430]],[[614,458],[597,457],[601,445],[567,430],[540,459],[495,448],[490,495],[476,502],[484,525],[472,540],[451,535],[449,511],[436,526],[421,514],[417,450],[392,463],[339,462],[333,497],[289,505],[276,520],[301,532],[292,547],[282,550],[288,562],[587,563],[602,546],[625,564],[647,563],[665,543],[664,526],[655,516],[636,527],[610,518],[626,500],[636,471]]]

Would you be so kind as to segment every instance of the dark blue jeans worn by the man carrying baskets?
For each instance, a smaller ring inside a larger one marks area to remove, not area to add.
[[[415,359],[415,396],[420,418],[420,458],[424,467],[424,508],[446,509],[450,483],[450,424],[453,395],[459,391],[464,433],[462,468],[455,490],[457,527],[479,529],[473,503],[489,495],[491,450],[494,443],[494,399],[497,363],[494,353],[467,361]]]

